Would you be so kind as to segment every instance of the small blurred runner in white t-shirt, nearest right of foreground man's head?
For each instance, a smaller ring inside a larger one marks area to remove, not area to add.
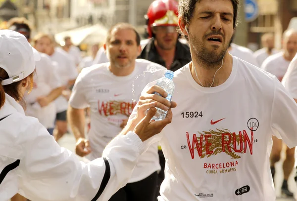
[[[262,65],[263,61],[270,55],[276,54],[279,51],[274,48],[274,36],[271,33],[266,33],[261,37],[263,48],[258,49],[253,53],[259,66]]]

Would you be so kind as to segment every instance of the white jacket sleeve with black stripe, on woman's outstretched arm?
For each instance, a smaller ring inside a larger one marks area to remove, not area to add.
[[[38,133],[35,137],[29,137]],[[32,201],[107,201],[125,186],[143,142],[133,132],[114,138],[102,157],[84,163],[59,147],[40,124],[27,129],[25,157],[18,168],[19,193]],[[102,183],[108,181],[102,188]],[[101,195],[100,195],[101,194]]]

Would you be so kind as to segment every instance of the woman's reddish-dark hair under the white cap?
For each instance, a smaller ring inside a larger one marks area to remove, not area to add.
[[[33,88],[33,76],[34,72],[31,73],[28,77],[30,79],[30,91]],[[1,84],[2,80],[8,79],[9,76],[6,73],[6,71],[2,68],[0,68],[0,108],[4,105],[5,102],[5,93],[10,95],[12,98],[14,98],[16,101],[19,101],[20,105],[26,109],[26,102],[23,99],[22,95],[19,92],[19,85],[21,84],[22,80],[13,82],[11,84],[3,85]]]

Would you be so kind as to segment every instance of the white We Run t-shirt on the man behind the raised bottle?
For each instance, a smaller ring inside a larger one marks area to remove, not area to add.
[[[108,67],[109,63],[104,63],[84,68],[69,99],[73,108],[91,108],[89,160],[101,156],[106,144],[122,130],[120,124],[132,113],[144,87],[162,77],[166,70],[144,59],[137,59],[133,73],[125,77],[113,75]],[[139,159],[129,183],[140,181],[159,169],[157,144],[153,144]]]

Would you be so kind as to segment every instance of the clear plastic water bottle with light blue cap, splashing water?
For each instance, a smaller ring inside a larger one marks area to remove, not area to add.
[[[167,70],[165,72],[164,77],[160,78],[156,84],[157,86],[160,86],[167,92],[166,99],[168,101],[171,101],[171,98],[172,98],[172,95],[174,92],[174,83],[172,80],[173,76],[174,76],[174,72]],[[159,93],[155,93],[155,94],[160,95]],[[157,109],[157,112],[154,115],[154,117],[152,118],[152,120],[155,120],[155,121],[164,120],[168,111],[161,110],[160,108],[157,108],[157,107],[156,107],[156,109]]]

